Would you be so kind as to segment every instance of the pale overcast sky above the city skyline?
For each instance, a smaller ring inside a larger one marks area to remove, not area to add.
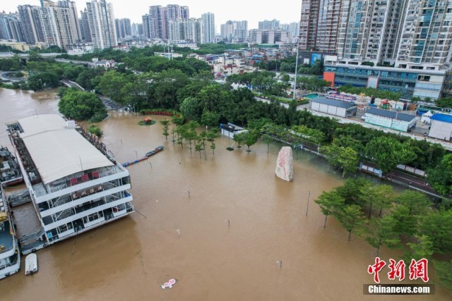
[[[55,0],[57,2],[57,0]],[[86,7],[86,0],[75,0],[80,11]],[[141,23],[141,16],[149,12],[149,6],[178,4],[189,6],[191,18],[201,18],[201,13],[215,14],[215,27],[220,31],[220,24],[227,20],[247,20],[248,29],[258,27],[258,21],[280,20],[281,23],[298,22],[302,9],[301,0],[283,1],[206,1],[206,0],[177,0],[177,1],[145,1],[145,0],[110,0],[113,4],[114,18],[130,18],[132,23]],[[18,5],[30,4],[40,6],[39,0],[0,0],[0,11],[17,11]],[[79,16],[80,17],[80,16]]]

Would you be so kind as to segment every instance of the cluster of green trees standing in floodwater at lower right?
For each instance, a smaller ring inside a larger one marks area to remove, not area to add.
[[[334,216],[348,232],[355,233],[376,248],[402,248],[405,261],[433,259],[441,283],[452,289],[452,262],[439,261],[438,255],[452,254],[451,203],[431,207],[420,192],[400,194],[389,185],[374,185],[364,178],[347,179],[343,186],[323,192],[315,202],[325,216]],[[407,241],[407,243],[404,243]],[[444,258],[444,257],[441,257]]]

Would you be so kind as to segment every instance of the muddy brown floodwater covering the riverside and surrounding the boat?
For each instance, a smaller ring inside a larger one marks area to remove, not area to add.
[[[10,146],[4,123],[56,113],[56,99],[55,91],[0,89],[1,144]],[[2,300],[450,300],[438,286],[430,296],[363,295],[375,250],[355,235],[348,242],[333,218],[323,228],[313,201],[343,180],[314,154],[294,154],[287,183],[275,178],[281,145],[271,144],[269,154],[260,143],[249,153],[229,152],[233,140],[220,137],[215,156],[208,149],[199,159],[165,141],[159,123],[140,126],[141,119],[110,112],[100,123],[119,161],[165,146],[129,167],[137,212],[39,251],[37,274],[25,277],[21,269],[0,281]],[[401,252],[380,254],[388,262]],[[169,278],[178,283],[162,290]]]

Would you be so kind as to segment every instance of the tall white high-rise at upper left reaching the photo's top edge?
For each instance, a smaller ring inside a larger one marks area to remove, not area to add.
[[[112,4],[105,0],[91,0],[86,3],[86,9],[93,46],[98,49],[117,46]]]

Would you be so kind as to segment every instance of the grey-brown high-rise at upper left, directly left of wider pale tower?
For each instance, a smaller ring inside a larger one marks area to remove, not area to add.
[[[23,37],[27,44],[45,42],[39,6],[20,5],[17,7],[22,21]]]

